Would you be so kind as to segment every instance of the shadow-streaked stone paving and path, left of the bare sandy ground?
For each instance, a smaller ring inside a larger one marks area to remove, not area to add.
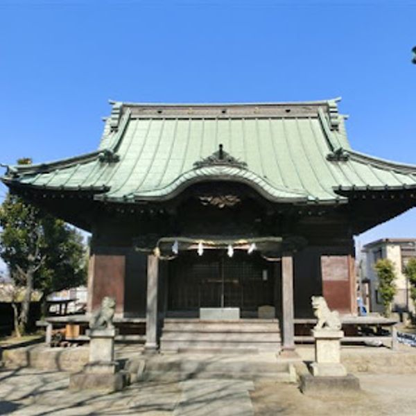
[[[136,383],[112,395],[69,392],[69,374],[33,369],[0,372],[0,414],[253,415],[251,381]]]

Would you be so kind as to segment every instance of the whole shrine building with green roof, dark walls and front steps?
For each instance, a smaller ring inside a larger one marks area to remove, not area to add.
[[[416,166],[352,150],[338,101],[112,102],[98,150],[2,179],[92,233],[88,309],[114,297],[148,349],[291,350],[312,295],[356,314],[354,236],[416,201]]]

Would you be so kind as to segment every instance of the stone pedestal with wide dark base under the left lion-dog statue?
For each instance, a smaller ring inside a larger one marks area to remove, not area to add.
[[[126,384],[126,374],[119,372],[119,365],[114,361],[114,338],[118,331],[114,328],[91,329],[89,336],[89,363],[83,372],[71,374],[71,390],[121,390]]]

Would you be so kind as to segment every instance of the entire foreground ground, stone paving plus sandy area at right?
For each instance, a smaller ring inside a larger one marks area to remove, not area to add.
[[[29,368],[0,372],[0,415],[416,415],[416,374],[361,374],[354,396],[306,397],[270,380],[137,383],[112,395],[69,392],[69,374]]]

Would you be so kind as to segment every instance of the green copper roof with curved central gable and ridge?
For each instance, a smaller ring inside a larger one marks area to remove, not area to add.
[[[335,202],[350,189],[416,187],[416,166],[354,152],[336,100],[166,105],[112,103],[96,152],[10,166],[3,181],[92,190],[97,199],[173,198],[201,181],[236,181],[275,202]],[[222,145],[221,154],[219,147]]]

